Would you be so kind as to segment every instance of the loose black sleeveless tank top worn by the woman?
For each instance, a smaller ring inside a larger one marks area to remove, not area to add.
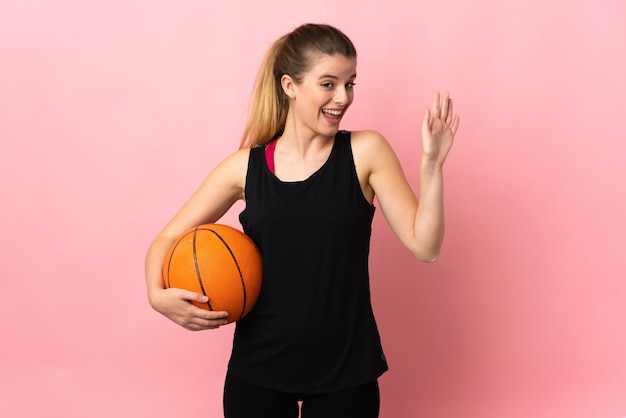
[[[263,256],[255,308],[237,322],[229,371],[290,393],[368,383],[387,370],[372,312],[368,255],[374,207],[363,196],[350,133],[340,131],[308,179],[282,182],[250,150],[244,232]]]

